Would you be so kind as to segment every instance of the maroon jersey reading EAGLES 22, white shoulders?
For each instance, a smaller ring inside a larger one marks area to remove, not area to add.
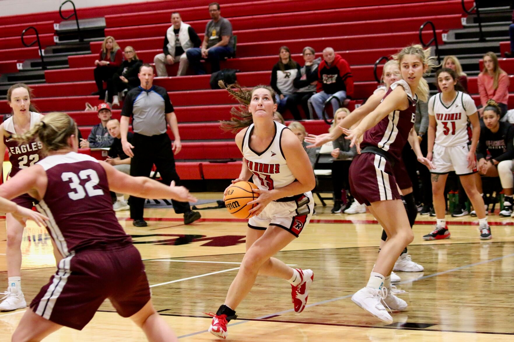
[[[35,124],[40,122],[39,116],[40,113],[35,113],[33,111],[30,112],[30,128],[34,127]],[[12,118],[13,117],[10,117],[4,121],[4,130],[10,134],[15,134],[16,131],[14,130],[14,122],[12,121]],[[32,166],[40,159],[43,159],[43,156],[41,155],[41,148],[43,145],[35,138],[29,141],[27,144],[18,145],[18,143],[15,142],[10,136],[4,136],[4,144],[9,150],[9,161],[12,164],[11,172],[9,173],[10,177],[13,177],[17,172],[20,171],[20,169]]]

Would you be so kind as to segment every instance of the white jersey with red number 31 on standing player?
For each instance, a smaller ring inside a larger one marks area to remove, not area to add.
[[[471,97],[457,91],[450,104],[443,103],[442,93],[437,93],[428,101],[428,113],[435,116],[435,143],[441,146],[455,146],[467,143],[471,136],[468,130],[468,116],[476,112]]]

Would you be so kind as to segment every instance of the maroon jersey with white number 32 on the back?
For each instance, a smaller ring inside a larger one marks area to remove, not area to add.
[[[93,157],[70,152],[48,156],[48,177],[38,211],[50,218],[50,233],[61,254],[95,245],[132,242],[113,211],[105,170]]]

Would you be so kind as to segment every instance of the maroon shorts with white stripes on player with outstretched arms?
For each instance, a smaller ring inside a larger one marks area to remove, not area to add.
[[[366,205],[400,199],[391,163],[373,153],[354,158],[350,165],[350,191],[359,203]]]

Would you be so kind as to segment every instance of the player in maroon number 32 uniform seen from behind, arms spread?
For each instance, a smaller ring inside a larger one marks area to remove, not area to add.
[[[0,196],[28,193],[49,217],[48,232],[63,259],[30,304],[13,341],[39,341],[62,326],[81,330],[108,298],[131,317],[149,340],[176,340],[152,305],[141,255],[118,223],[109,191],[148,198],[195,201],[185,187],[131,177],[113,166],[76,153],[77,125],[66,113],[49,113],[14,138],[37,137],[47,157],[0,186]],[[99,286],[101,284],[101,286]]]

